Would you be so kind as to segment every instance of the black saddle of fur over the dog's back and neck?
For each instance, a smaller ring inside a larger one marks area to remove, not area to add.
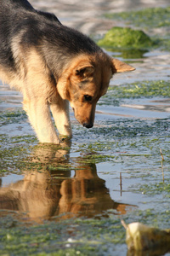
[[[25,52],[36,47],[55,79],[74,55],[101,51],[93,40],[63,26],[55,15],[37,11],[26,0],[0,0],[0,65],[13,71],[16,67],[11,42],[17,35],[19,47]]]

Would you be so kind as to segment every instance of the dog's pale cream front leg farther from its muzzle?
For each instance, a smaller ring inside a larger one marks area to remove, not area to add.
[[[29,102],[25,100],[23,104],[39,141],[59,144],[59,137],[51,119],[48,103],[34,99]]]

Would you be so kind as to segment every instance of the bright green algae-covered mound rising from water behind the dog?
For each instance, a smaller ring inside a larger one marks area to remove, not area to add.
[[[141,30],[133,30],[130,27],[112,27],[98,44],[122,49],[149,49],[155,43]]]

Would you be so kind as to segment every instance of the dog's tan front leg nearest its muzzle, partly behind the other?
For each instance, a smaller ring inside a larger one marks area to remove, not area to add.
[[[67,100],[60,99],[58,103],[52,103],[50,105],[51,112],[54,116],[55,125],[59,131],[59,134],[71,137],[71,121],[69,113],[69,102]]]

